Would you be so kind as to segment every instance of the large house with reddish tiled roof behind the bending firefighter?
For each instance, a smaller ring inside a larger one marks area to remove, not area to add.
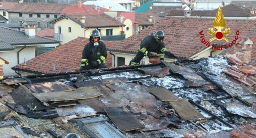
[[[200,41],[199,32],[203,30],[205,39],[210,39],[207,35],[207,29],[212,27],[213,19],[206,18],[174,18],[167,17],[161,19],[154,27],[148,27],[122,41],[109,41],[106,43],[107,50],[115,55],[113,63],[118,65],[118,60],[124,61],[125,65],[129,65],[130,60],[135,57],[138,52],[138,45],[141,40],[156,30],[163,30],[165,33],[165,46],[167,50],[177,57],[186,57],[188,59],[200,59],[209,56],[215,56],[222,53],[224,50],[214,50],[212,47],[206,47]],[[202,25],[203,24],[203,25]],[[193,26],[193,27],[191,27]],[[256,29],[256,22],[252,20],[226,20],[226,27],[231,29],[232,34],[227,36],[228,39],[233,40],[236,30],[240,30],[240,35],[249,34]],[[212,41],[211,43],[218,43]],[[223,41],[225,43],[225,41]],[[173,59],[165,58],[166,61],[173,61]],[[149,59],[145,57],[145,64],[148,64]]]

